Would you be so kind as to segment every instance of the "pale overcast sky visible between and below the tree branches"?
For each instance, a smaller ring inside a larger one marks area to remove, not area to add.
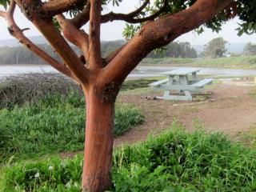
[[[134,10],[136,3],[138,3],[138,0],[133,0],[134,4],[131,3],[131,0],[126,0],[122,2],[121,6],[118,8],[113,7],[107,7],[106,12],[110,10],[114,10],[115,12],[122,12],[122,13],[128,13],[131,10]],[[137,4],[138,5],[138,4]],[[34,29],[34,26],[30,24],[30,22],[27,21],[26,18],[18,11],[16,11],[15,14],[16,21],[18,23],[18,26],[21,28],[30,27],[30,30],[26,31],[27,36],[33,36],[33,35],[39,35],[38,30]],[[0,18],[0,39],[7,39],[11,38],[10,34],[6,30],[6,21]],[[206,44],[210,41],[212,38],[217,38],[219,36],[222,36],[226,41],[228,42],[254,42],[256,43],[256,34],[253,35],[242,35],[242,37],[238,37],[237,31],[235,30],[238,27],[238,19],[233,19],[230,22],[226,23],[222,27],[222,31],[220,31],[218,34],[213,33],[211,30],[207,30],[201,34],[198,35],[194,32],[190,32],[188,34],[183,34],[181,37],[179,37],[178,41],[180,42],[190,42],[193,45],[198,44]],[[124,26],[124,22],[110,22],[108,24],[102,25],[102,40],[103,41],[111,41],[111,40],[118,40],[122,39],[122,29]]]

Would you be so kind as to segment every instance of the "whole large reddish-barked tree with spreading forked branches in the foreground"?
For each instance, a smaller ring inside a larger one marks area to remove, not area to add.
[[[203,24],[218,31],[222,22],[236,15],[242,19],[240,31],[249,33],[256,29],[256,26],[251,24],[255,22],[255,1],[145,0],[137,10],[129,14],[102,14],[102,10],[109,3],[118,6],[121,2],[122,0],[0,1],[8,8],[7,11],[2,10],[0,16],[6,18],[9,23],[10,34],[56,70],[73,78],[84,91],[84,191],[104,191],[111,186],[114,102],[122,82],[142,58],[190,30],[198,29],[198,32],[202,32],[202,28],[198,27]],[[16,5],[50,42],[63,63],[26,38],[23,31],[27,29],[20,29],[14,21]],[[65,12],[69,12],[71,18],[66,18]],[[102,23],[116,20],[127,23],[123,34],[128,42],[106,58],[102,58],[100,26]],[[88,22],[90,30],[86,33],[81,27]],[[133,25],[136,23],[139,25]],[[82,50],[80,57],[74,53],[66,40]]]

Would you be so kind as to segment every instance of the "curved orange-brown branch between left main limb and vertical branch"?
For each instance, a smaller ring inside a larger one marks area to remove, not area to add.
[[[55,17],[62,28],[64,37],[78,46],[85,55],[86,61],[89,60],[89,36],[83,30],[78,30],[70,20],[66,19],[62,14]]]

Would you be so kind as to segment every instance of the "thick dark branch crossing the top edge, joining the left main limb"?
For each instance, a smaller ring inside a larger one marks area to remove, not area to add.
[[[53,17],[77,6],[78,2],[81,2],[81,0],[54,0],[43,3],[42,10],[48,14],[48,17]]]

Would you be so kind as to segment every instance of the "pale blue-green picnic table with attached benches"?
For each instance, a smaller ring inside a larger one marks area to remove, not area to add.
[[[154,89],[164,90],[163,99],[192,101],[191,93],[202,93],[204,86],[211,84],[213,78],[198,80],[197,73],[201,69],[182,68],[167,71],[168,78],[150,84]],[[171,93],[175,92],[175,94]]]

